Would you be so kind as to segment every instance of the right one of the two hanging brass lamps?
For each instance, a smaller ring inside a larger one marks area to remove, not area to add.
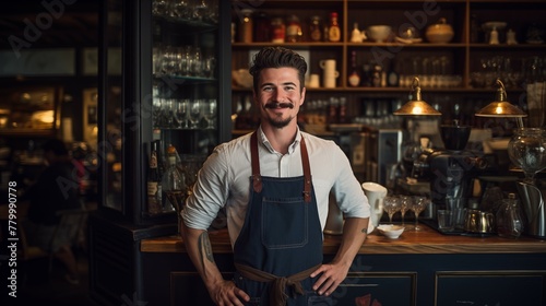
[[[527,117],[527,114],[507,101],[507,91],[500,79],[497,79],[496,84],[497,93],[495,95],[495,101],[479,109],[478,113],[474,115],[477,117],[517,118],[518,127],[523,128],[522,118]]]

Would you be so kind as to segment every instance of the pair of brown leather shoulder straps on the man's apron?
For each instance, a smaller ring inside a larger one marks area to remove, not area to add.
[[[305,138],[301,136],[300,141],[301,164],[304,166],[304,200],[309,203],[311,201],[311,166],[309,164],[309,155]],[[258,155],[258,132],[254,131],[250,137],[250,155],[252,161],[252,188],[254,192],[262,191],[262,180],[260,174],[260,158]]]

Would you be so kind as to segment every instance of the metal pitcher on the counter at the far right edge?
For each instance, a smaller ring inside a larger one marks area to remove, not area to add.
[[[525,214],[526,224],[524,232],[537,238],[546,238],[546,190],[525,183],[517,181],[518,193],[521,198],[521,204]]]

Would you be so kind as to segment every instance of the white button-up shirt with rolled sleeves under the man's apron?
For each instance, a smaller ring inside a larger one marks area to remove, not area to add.
[[[203,164],[193,193],[181,213],[188,227],[209,228],[218,211],[225,207],[229,238],[232,245],[235,244],[245,223],[251,188],[250,136],[219,144]],[[258,129],[260,174],[269,177],[302,176],[301,137],[306,139],[322,229],[327,222],[331,191],[345,217],[369,217],[370,207],[364,190],[347,156],[333,141],[298,132],[288,153],[282,154],[273,150],[265,134]]]

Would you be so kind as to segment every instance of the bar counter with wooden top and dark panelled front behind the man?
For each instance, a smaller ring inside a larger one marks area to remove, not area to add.
[[[546,305],[546,240],[442,235],[422,225],[397,239],[368,235],[345,281],[320,305]],[[233,278],[227,231],[209,236],[219,270]],[[340,239],[324,236],[324,262]],[[150,305],[213,305],[180,237],[144,238],[140,251]]]

